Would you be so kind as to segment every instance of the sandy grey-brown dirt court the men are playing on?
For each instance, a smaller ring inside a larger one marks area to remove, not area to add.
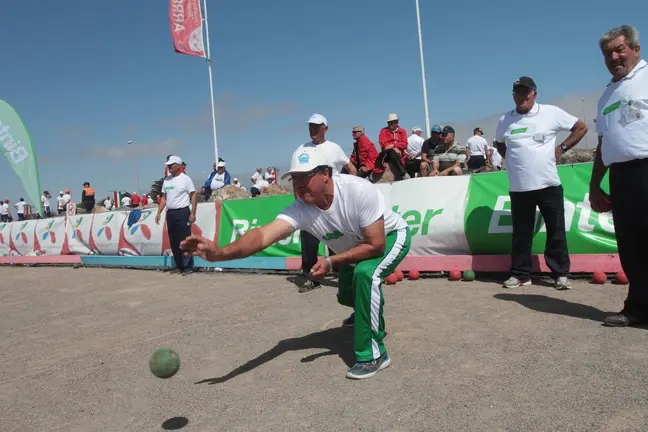
[[[287,279],[0,268],[0,430],[648,430],[648,331],[600,325],[626,287],[386,286],[392,366],[352,381],[334,284]]]

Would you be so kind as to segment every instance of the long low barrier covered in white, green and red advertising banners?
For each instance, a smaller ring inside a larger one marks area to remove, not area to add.
[[[591,210],[591,163],[558,167],[565,191],[567,241],[573,271],[617,271],[612,215]],[[414,178],[377,187],[409,224],[412,246],[403,269],[422,271],[473,268],[506,271],[511,251],[511,214],[505,172],[474,176]],[[604,180],[607,189],[607,177]],[[223,246],[273,220],[294,200],[291,195],[201,203],[194,234]],[[88,265],[170,266],[173,259],[165,218],[156,208],[0,224],[0,263],[81,262]],[[541,255],[546,228],[537,211],[535,269],[546,271]],[[296,270],[301,265],[299,232],[254,257],[198,266]],[[320,245],[320,254],[324,253]],[[63,258],[65,257],[65,258]],[[146,259],[145,259],[146,258]],[[138,264],[139,263],[139,264]]]

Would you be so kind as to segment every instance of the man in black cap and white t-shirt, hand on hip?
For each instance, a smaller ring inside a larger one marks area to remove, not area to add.
[[[531,285],[531,246],[536,206],[547,227],[544,257],[557,290],[571,288],[571,262],[565,232],[565,203],[556,161],[587,133],[581,120],[562,109],[536,103],[538,87],[533,79],[513,83],[515,109],[504,114],[495,133],[500,154],[506,158],[513,219],[511,277],[505,288]],[[556,146],[556,134],[571,131]]]

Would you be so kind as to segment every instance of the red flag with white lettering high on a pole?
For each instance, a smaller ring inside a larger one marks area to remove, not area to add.
[[[170,0],[169,21],[175,51],[205,57],[200,0]]]

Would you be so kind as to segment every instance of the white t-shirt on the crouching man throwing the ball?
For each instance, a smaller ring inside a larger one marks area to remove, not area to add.
[[[362,228],[381,216],[385,234],[407,228],[373,183],[341,174],[333,176],[333,185],[333,203],[327,210],[297,199],[277,218],[289,222],[295,230],[308,231],[338,254],[364,243]]]

